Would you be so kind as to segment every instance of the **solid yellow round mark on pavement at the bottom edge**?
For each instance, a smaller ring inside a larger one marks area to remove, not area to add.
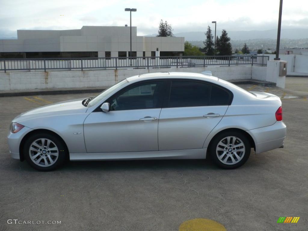
[[[196,218],[184,221],[180,225],[179,231],[227,231],[227,229],[217,221]]]

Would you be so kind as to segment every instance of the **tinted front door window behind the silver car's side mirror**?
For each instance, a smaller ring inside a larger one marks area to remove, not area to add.
[[[128,87],[124,92],[111,97],[112,111],[159,108],[164,93],[164,82],[147,82]],[[91,101],[90,101],[91,102]]]

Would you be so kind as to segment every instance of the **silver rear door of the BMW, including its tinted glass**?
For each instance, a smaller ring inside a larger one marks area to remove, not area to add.
[[[169,99],[160,112],[159,150],[202,148],[225,115],[231,94],[205,81],[172,80]]]

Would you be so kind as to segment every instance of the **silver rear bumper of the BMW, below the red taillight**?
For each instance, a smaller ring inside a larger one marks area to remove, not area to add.
[[[270,151],[283,146],[286,138],[286,124],[277,121],[275,124],[263,128],[247,131],[256,145],[256,154]]]

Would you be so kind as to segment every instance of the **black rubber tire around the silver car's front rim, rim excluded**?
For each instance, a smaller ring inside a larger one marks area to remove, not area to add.
[[[30,159],[30,155],[29,155],[30,145],[34,140],[37,140],[40,138],[47,138],[49,140],[52,140],[55,143],[55,145],[58,147],[58,150],[59,150],[58,159],[51,166],[41,167],[41,166],[34,164],[34,162]],[[28,139],[25,141],[25,144],[23,146],[23,155],[24,155],[25,160],[28,162],[28,164],[31,165],[31,167],[39,171],[52,171],[56,168],[59,168],[61,165],[63,165],[63,163],[66,160],[67,151],[66,151],[65,145],[63,144],[63,141],[60,140],[57,136],[54,136],[48,133],[38,133],[38,134],[34,134],[28,137]]]

